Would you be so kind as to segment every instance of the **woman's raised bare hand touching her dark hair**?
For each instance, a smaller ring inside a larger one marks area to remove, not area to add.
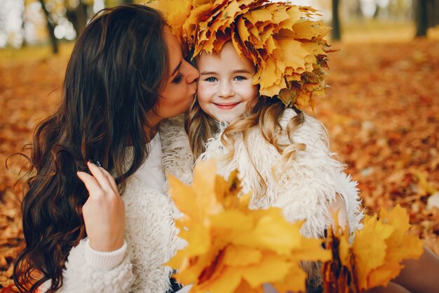
[[[82,207],[90,247],[100,252],[112,252],[123,246],[125,205],[114,178],[103,168],[88,162],[86,172],[77,172],[90,194]]]

